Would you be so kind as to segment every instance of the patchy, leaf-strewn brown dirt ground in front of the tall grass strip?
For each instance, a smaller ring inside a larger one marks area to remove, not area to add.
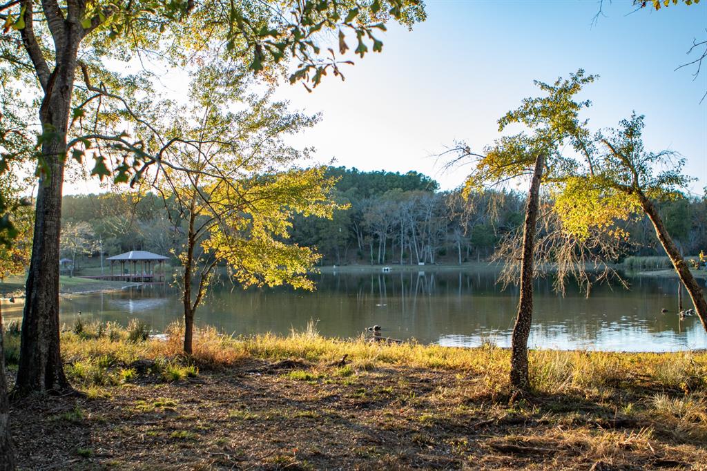
[[[632,412],[653,392],[510,400],[479,381],[249,360],[15,402],[11,421],[24,470],[707,470],[702,434]]]

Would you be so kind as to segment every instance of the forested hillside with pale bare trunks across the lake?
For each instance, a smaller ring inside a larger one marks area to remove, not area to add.
[[[421,173],[362,172],[332,167],[334,199],[348,209],[331,220],[298,216],[291,237],[315,245],[322,264],[459,264],[486,260],[503,236],[522,223],[525,195],[486,192],[464,202],[460,191],[440,191]],[[165,210],[165,204],[167,210]],[[667,227],[685,255],[707,250],[707,198],[661,202]],[[127,250],[180,251],[182,222],[173,202],[156,194],[89,194],[64,197],[65,257],[98,257]],[[625,224],[624,257],[663,255],[645,216]]]

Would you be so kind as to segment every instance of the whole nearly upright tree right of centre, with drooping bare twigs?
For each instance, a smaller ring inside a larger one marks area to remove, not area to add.
[[[475,153],[466,144],[454,149],[458,153],[454,162],[471,160],[472,173],[464,185],[467,197],[509,181],[530,179],[525,220],[518,231],[506,236],[495,255],[496,260],[506,264],[501,280],[520,283],[510,360],[510,384],[520,392],[530,388],[527,341],[532,325],[532,281],[539,270],[550,263],[555,267],[559,291],[564,289],[568,276],[580,279],[589,289],[592,282],[612,273],[602,259],[617,249],[614,234],[602,224],[579,233],[568,226],[554,204],[556,201],[568,202],[570,207],[581,204],[581,194],[568,191],[568,187],[575,188],[571,182],[583,171],[594,171],[592,139],[585,129],[586,122],[580,120],[580,112],[590,102],[576,98],[583,86],[594,80],[595,76],[580,69],[568,79],[554,83],[536,81],[542,96],[522,100],[517,110],[498,120],[501,132],[511,124],[521,124],[524,131],[502,136],[483,153]],[[542,188],[547,190],[545,201]],[[599,213],[609,221],[621,216],[620,211]],[[600,268],[598,274],[585,270],[590,264]]]

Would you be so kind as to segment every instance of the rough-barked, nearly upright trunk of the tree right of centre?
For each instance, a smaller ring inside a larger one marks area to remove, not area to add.
[[[510,340],[510,385],[515,390],[526,391],[530,387],[528,378],[528,337],[532,322],[532,280],[534,263],[534,238],[539,211],[540,180],[545,164],[541,153],[535,161],[535,170],[528,190],[525,204],[525,223],[523,223],[522,260],[520,262],[520,303],[518,317],[513,327]]]

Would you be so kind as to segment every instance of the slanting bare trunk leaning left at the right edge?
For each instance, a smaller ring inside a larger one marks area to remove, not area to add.
[[[702,321],[702,327],[707,330],[707,301],[705,300],[705,296],[702,293],[700,285],[697,283],[695,277],[692,276],[689,267],[682,258],[682,255],[680,255],[680,251],[672,241],[670,234],[665,228],[665,224],[663,224],[662,219],[660,219],[660,215],[658,214],[658,209],[655,207],[655,204],[653,204],[650,199],[645,197],[643,192],[638,192],[638,198],[641,200],[641,207],[643,207],[643,211],[645,211],[645,214],[648,215],[650,222],[653,223],[655,235],[658,236],[660,245],[662,245],[662,248],[665,249],[667,256],[670,257],[672,266],[675,268],[677,275],[680,277],[680,281],[682,281],[682,284],[685,285],[685,289],[690,295],[690,299],[695,306],[697,315],[699,315],[700,320]]]

